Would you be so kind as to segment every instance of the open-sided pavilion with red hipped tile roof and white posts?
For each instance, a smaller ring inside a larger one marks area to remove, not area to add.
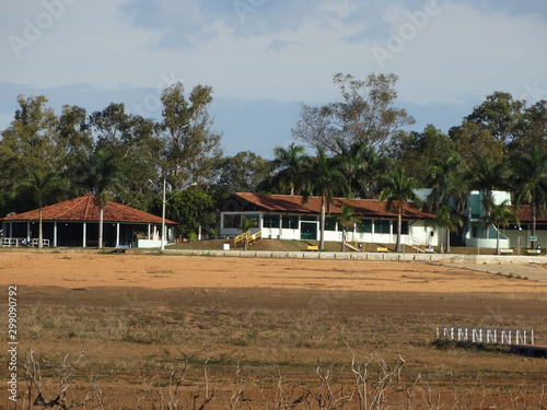
[[[0,219],[2,245],[37,244],[39,210]],[[165,220],[166,242],[176,222]],[[43,239],[46,246],[97,246],[98,206],[93,195],[42,208]],[[162,218],[109,202],[103,212],[103,246],[155,247],[161,244]]]

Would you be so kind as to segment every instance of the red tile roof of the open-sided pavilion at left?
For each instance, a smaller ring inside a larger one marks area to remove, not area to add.
[[[42,208],[42,219],[43,221],[96,222],[98,221],[98,206],[95,204],[94,199],[95,197],[90,194],[69,201],[44,207]],[[35,209],[34,211],[3,218],[2,221],[38,221],[38,210]],[[112,201],[104,210],[103,220],[105,222],[162,223],[160,216]],[[176,222],[170,220],[165,220],[165,223],[168,225],[178,225]]]

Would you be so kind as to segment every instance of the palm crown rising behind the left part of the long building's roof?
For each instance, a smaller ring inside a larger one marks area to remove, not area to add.
[[[294,142],[287,149],[276,147],[274,156],[274,166],[279,169],[274,177],[274,184],[289,187],[291,195],[294,195],[294,190],[301,185],[302,171],[306,159],[304,147],[296,145]]]

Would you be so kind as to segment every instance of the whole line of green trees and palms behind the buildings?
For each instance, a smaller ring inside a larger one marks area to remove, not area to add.
[[[339,101],[302,105],[294,142],[276,148],[271,161],[248,151],[223,154],[210,86],[188,94],[181,83],[165,89],[159,120],[116,103],[91,114],[66,105],[56,115],[45,96],[19,96],[1,132],[0,215],[88,192],[158,213],[165,180],[167,218],[182,223],[182,237],[195,236],[197,226],[214,235],[212,210],[235,191],[318,196],[323,221],[334,197],[376,198],[399,214],[400,232],[403,203],[418,202],[416,188],[431,188],[422,207],[450,232],[461,225],[472,190],[484,194],[489,216],[504,215],[488,223],[508,224],[512,219],[490,200],[500,189],[516,209],[531,206],[535,230],[547,211],[547,102],[527,105],[494,92],[447,133],[433,125],[408,131],[415,119],[396,107],[396,82],[395,74],[336,74]]]

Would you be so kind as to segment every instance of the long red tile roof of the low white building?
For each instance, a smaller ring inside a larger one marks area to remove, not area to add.
[[[321,197],[310,197],[306,203],[302,203],[301,196],[291,195],[264,195],[236,192],[235,198],[244,199],[255,204],[264,211],[271,212],[293,212],[293,213],[314,213],[321,211]],[[396,212],[386,211],[386,203],[381,203],[376,199],[346,199],[335,198],[330,204],[330,213],[340,213],[341,206],[348,204],[353,208],[357,215],[370,218],[397,218]],[[405,203],[403,218],[405,219],[434,219],[433,213],[420,211],[414,203]]]

